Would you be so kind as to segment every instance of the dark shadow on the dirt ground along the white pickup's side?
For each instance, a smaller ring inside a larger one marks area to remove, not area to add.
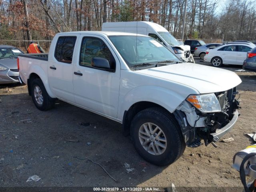
[[[2,186],[136,186],[166,168],[142,159],[118,122],[60,100],[40,111],[27,93],[0,99]],[[34,174],[42,182],[24,182]]]

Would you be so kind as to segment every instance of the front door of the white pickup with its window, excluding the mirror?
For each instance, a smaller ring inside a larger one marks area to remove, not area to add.
[[[80,53],[74,65],[76,104],[93,112],[117,117],[120,63],[104,38],[81,36]],[[92,66],[92,58],[106,58],[114,72]]]

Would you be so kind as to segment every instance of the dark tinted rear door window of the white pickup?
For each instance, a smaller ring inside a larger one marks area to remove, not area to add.
[[[63,63],[72,63],[75,44],[76,37],[74,36],[59,37],[54,54],[56,60]]]

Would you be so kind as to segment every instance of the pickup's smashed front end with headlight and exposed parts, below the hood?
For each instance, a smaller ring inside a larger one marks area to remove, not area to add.
[[[218,141],[236,123],[240,108],[236,87],[224,92],[189,96],[178,106],[174,116],[178,120],[186,145],[198,147],[201,139],[207,146]],[[204,96],[205,97],[202,97]]]

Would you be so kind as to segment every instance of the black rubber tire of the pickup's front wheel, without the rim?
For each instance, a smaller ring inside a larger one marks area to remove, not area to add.
[[[167,145],[162,154],[150,154],[142,146],[139,138],[139,130],[140,127],[146,122],[156,124],[159,128],[161,128],[162,132],[164,132]],[[132,142],[140,156],[142,156],[142,158],[144,158],[146,161],[157,166],[166,166],[172,164],[178,158],[180,158],[186,148],[178,122],[174,116],[172,116],[172,114],[169,114],[166,110],[161,108],[147,108],[136,114],[131,122],[130,135]]]

